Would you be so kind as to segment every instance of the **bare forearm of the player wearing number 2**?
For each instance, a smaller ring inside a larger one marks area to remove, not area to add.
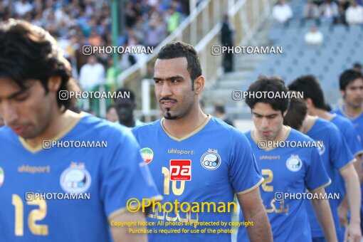
[[[311,191],[311,193],[325,194],[325,189],[320,188]],[[332,218],[332,211],[330,210],[329,201],[326,199],[313,199],[311,203],[317,220],[319,221],[322,228],[322,232],[324,233],[325,239],[327,241],[337,241],[337,234],[335,233],[335,225]]]

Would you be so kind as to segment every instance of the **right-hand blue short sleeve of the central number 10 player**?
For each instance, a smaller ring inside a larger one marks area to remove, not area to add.
[[[246,194],[256,189],[263,177],[258,171],[256,158],[252,152],[251,144],[242,132],[231,136],[231,165],[229,167],[229,180],[236,194]]]

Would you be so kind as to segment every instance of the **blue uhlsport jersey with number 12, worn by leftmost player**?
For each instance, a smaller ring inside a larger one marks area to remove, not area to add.
[[[0,129],[0,241],[112,241],[128,199],[159,195],[125,127],[82,114],[54,140],[78,148],[33,148]]]

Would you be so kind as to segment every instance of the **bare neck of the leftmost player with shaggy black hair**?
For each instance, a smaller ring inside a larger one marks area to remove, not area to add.
[[[65,129],[65,127],[68,127],[71,123],[75,122],[75,120],[78,120],[79,117],[80,115],[70,110],[67,110],[64,113],[54,112],[43,132],[33,139],[26,140],[26,142],[31,147],[37,147],[39,144],[42,144],[43,140],[53,140],[54,137],[57,137]]]

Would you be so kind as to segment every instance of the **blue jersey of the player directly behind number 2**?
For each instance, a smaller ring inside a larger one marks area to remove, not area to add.
[[[327,186],[325,191],[327,194],[334,196],[334,194],[338,194],[340,192],[340,187],[337,185],[337,181],[340,179],[339,171],[356,160],[354,159],[344,137],[342,137],[341,132],[334,124],[332,124],[332,122],[316,117],[314,124],[310,130],[307,131],[306,135],[317,141],[318,144],[322,144],[322,147],[319,147],[319,154],[322,158],[322,164],[324,164],[328,176],[332,179],[332,184]],[[343,195],[344,194],[340,194],[340,197]],[[312,237],[324,237],[324,233],[322,233],[322,229],[315,217],[310,201],[305,201],[305,204],[307,206],[308,214],[310,215]],[[337,238],[340,238],[340,223],[337,211],[339,200],[329,199],[329,204],[335,223]]]

